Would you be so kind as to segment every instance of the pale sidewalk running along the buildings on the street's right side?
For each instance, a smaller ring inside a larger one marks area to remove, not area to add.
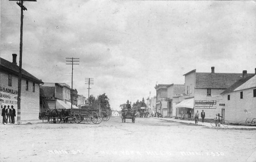
[[[195,124],[195,121],[186,121],[183,119],[174,119],[174,118],[157,118],[154,117],[155,119],[160,119],[160,120],[164,120],[164,121],[173,121],[173,122],[179,122],[179,123],[187,123],[187,124]],[[202,123],[202,122],[198,122],[198,125],[203,125],[205,127],[212,127],[211,123]],[[213,127],[214,128],[214,127]],[[229,125],[228,127],[223,127],[223,125],[221,125],[221,127],[218,128],[233,128],[233,129],[255,129],[256,130],[256,126],[247,126],[247,125]]]

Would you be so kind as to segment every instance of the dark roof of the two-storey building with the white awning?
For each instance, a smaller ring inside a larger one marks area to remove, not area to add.
[[[252,76],[254,74],[246,74]],[[226,89],[242,79],[242,73],[196,73],[195,88]]]

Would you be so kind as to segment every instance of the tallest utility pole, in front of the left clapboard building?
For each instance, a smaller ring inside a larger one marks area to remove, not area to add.
[[[9,1],[17,1],[17,0],[9,0]],[[26,0],[30,2],[37,2],[36,0]],[[23,5],[25,1],[20,0],[19,3],[16,2],[20,7],[20,61],[19,61],[19,79],[18,79],[18,106],[17,106],[17,123],[21,124],[20,122],[20,103],[21,103],[21,69],[22,69],[22,36],[23,36],[23,10],[27,10],[27,8]]]

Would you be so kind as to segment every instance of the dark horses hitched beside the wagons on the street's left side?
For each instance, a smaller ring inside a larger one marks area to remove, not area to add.
[[[54,110],[48,110],[46,111],[45,113],[45,116],[48,117],[48,123],[50,123],[50,117],[53,117],[53,122],[56,123],[56,118],[60,118],[60,123],[62,123],[62,119],[63,117],[65,117],[65,121],[67,122],[67,119],[68,117],[67,116],[69,115],[69,111],[66,110],[66,109],[54,109]],[[64,121],[64,122],[65,122]]]

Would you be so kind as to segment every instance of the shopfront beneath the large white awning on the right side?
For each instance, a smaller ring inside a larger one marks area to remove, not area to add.
[[[176,113],[178,118],[193,119],[194,115],[194,98],[184,99],[176,105]]]

